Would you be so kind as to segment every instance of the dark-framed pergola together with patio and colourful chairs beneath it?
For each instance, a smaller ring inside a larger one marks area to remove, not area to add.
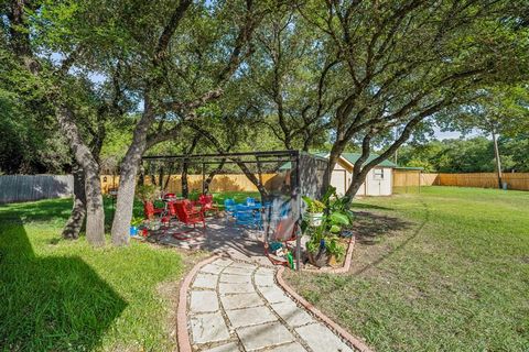
[[[311,179],[302,179],[299,164],[304,157],[305,175],[316,177],[316,170],[311,173],[311,165],[306,161],[312,162],[313,166],[317,166],[317,162],[313,161],[313,156],[296,151],[262,154],[145,157],[143,162],[150,168],[148,175],[155,174],[156,168],[166,163],[185,163],[187,169],[199,169],[204,182],[209,172],[207,166],[215,168],[224,161],[223,165],[227,165],[224,167],[230,173],[236,172],[237,167],[246,169],[246,174],[250,170],[252,176],[246,176],[258,180],[256,189],[260,188],[261,196],[246,197],[244,200],[230,197],[216,199],[206,193],[204,183],[201,194],[195,188],[192,197],[187,198],[182,197],[182,193],[164,193],[162,189],[155,202],[143,202],[144,219],[149,226],[141,228],[139,233],[147,241],[159,244],[209,251],[260,265],[300,267],[303,250],[299,227],[301,195],[311,194],[311,190],[314,194],[319,186]],[[276,173],[274,179],[260,185],[264,173]]]

